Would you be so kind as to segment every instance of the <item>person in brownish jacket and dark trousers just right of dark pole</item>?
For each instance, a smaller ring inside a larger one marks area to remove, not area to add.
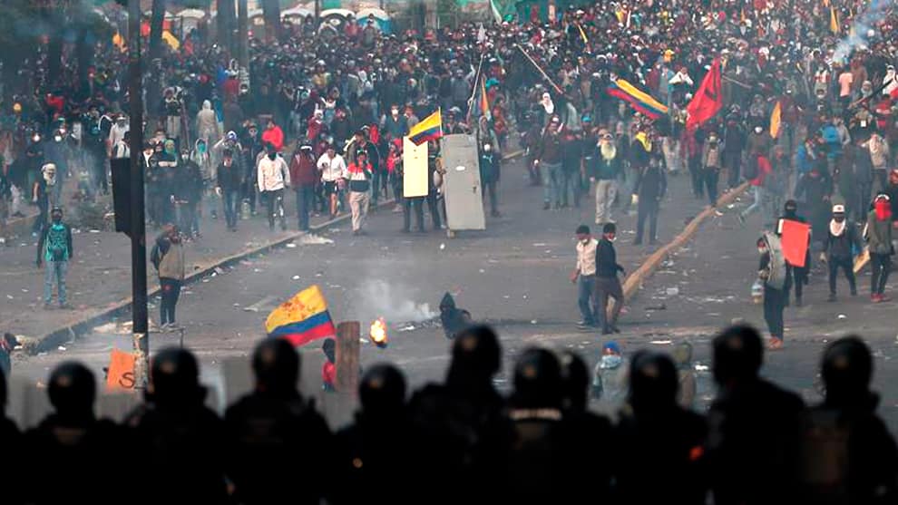
[[[181,296],[184,282],[184,246],[177,226],[166,225],[150,252],[150,261],[159,273],[161,304],[159,326],[162,331],[178,329],[175,322],[175,306]]]

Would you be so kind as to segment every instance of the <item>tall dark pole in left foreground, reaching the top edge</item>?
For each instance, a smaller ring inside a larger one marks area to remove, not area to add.
[[[131,109],[131,296],[132,337],[137,361],[137,389],[145,388],[150,371],[147,325],[147,246],[143,202],[143,96],[141,69],[141,3],[128,2],[128,94]]]

